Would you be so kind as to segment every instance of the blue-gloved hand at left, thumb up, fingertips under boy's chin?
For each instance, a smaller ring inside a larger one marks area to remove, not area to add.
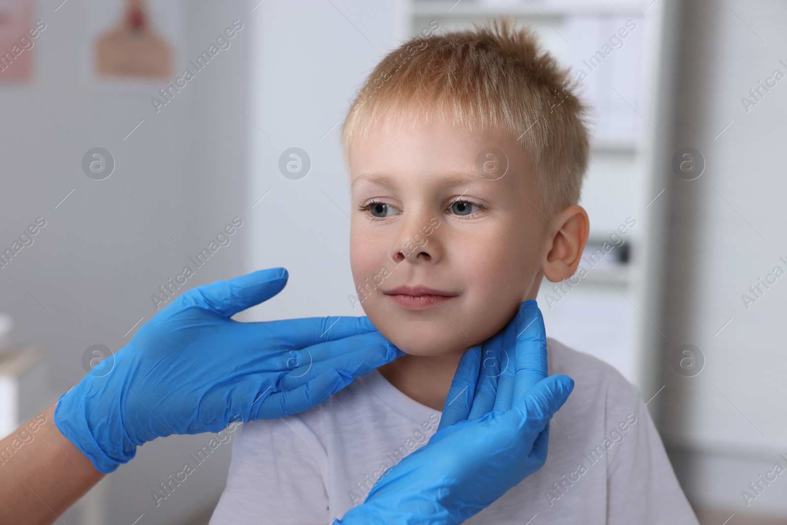
[[[230,319],[286,281],[272,268],[188,290],[61,397],[57,428],[111,472],[159,436],[303,412],[403,354],[367,317]]]

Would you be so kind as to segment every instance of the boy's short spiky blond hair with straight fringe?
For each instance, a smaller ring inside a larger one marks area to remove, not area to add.
[[[434,107],[467,131],[491,131],[525,148],[545,213],[576,204],[588,165],[588,108],[567,87],[569,70],[541,50],[534,31],[501,17],[486,27],[423,34],[367,77],[342,125],[345,163],[354,139],[387,111],[395,121],[420,105],[417,118],[427,122]]]

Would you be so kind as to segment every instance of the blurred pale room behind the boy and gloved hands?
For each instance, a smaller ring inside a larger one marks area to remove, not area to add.
[[[286,267],[256,320],[361,315],[342,120],[402,40],[499,14],[594,109],[585,272],[541,287],[548,335],[637,386],[701,523],[787,523],[787,477],[749,486],[787,456],[776,0],[0,0],[0,436],[127,344],[185,266],[176,294]],[[61,519],[207,523],[230,447],[152,492],[209,438],[146,444]]]

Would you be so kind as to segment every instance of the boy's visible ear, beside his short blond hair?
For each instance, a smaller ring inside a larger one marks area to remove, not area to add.
[[[558,283],[577,271],[582,250],[588,240],[590,221],[582,206],[571,205],[557,213],[549,224],[549,235],[541,270]]]

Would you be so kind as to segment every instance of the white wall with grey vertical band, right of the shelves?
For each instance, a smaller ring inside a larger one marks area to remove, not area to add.
[[[707,168],[693,181],[673,177],[671,187],[661,430],[689,497],[747,523],[757,514],[787,519],[785,475],[748,508],[741,496],[774,463],[787,467],[778,456],[787,455],[787,277],[750,308],[741,300],[774,266],[787,270],[779,260],[787,259],[787,80],[748,113],[741,103],[774,69],[787,74],[785,16],[783,2],[692,0],[679,28],[674,149],[700,150]],[[691,378],[669,363],[687,343],[706,360]]]

